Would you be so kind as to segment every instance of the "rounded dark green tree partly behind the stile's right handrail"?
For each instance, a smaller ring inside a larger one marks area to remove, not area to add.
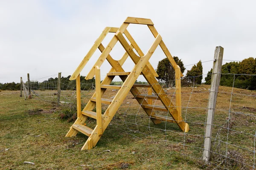
[[[183,62],[181,61],[181,59],[179,59],[178,57],[173,57],[173,59],[175,60],[175,62],[177,63],[177,65],[180,66],[180,71],[181,73],[184,73],[185,71],[185,67]],[[160,82],[166,82],[166,85],[168,87],[172,87],[175,85],[175,69],[172,67],[170,61],[168,58],[162,59],[161,61],[158,62],[157,65],[157,74],[159,75],[159,77],[157,77],[157,79]]]

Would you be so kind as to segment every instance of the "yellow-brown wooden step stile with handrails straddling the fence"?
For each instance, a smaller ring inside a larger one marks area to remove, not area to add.
[[[148,50],[147,54],[143,54],[143,52],[140,50],[137,43],[134,41],[134,39],[131,37],[131,35],[128,33],[126,28],[128,27],[129,23],[135,23],[135,24],[145,24],[148,25],[148,28],[151,30],[152,34],[155,37],[154,43],[151,45],[151,48]],[[115,36],[112,38],[111,42],[109,42],[107,48],[105,48],[101,42],[105,38],[106,34],[108,32],[114,32],[116,33]],[[123,34],[128,38],[128,40],[131,42],[131,45],[128,44],[128,42],[123,37]],[[123,55],[123,57],[120,60],[114,60],[110,55],[110,51],[112,50],[113,46],[116,44],[116,42],[119,41],[122,46],[125,48],[126,53]],[[154,53],[157,46],[160,45],[160,47],[163,49],[164,53],[166,54],[166,57],[169,58],[171,64],[175,68],[175,76],[176,76],[176,106],[173,105],[167,94],[163,91],[160,84],[157,82],[157,73],[155,72],[154,68],[151,66],[151,64],[148,62],[152,54]],[[87,61],[90,59],[92,54],[96,51],[96,48],[99,48],[99,50],[102,52],[99,59],[96,61],[96,64],[93,66],[89,74],[85,79],[92,79],[95,75],[96,80],[96,91],[93,94],[93,96],[88,101],[85,108],[81,111],[81,97],[80,97],[80,72],[84,68],[84,65],[87,63]],[[137,51],[137,53],[140,56],[137,56],[137,54],[134,53],[133,48]],[[131,72],[125,72],[122,68],[123,63],[127,59],[127,57],[130,56],[133,60],[135,66],[132,69]],[[112,68],[103,79],[102,82],[100,82],[100,69],[99,67],[102,65],[103,61],[107,59],[108,62],[111,64]],[[134,84],[137,80],[137,78],[143,75],[145,79],[148,81],[148,84]],[[152,122],[154,124],[159,124],[161,121],[167,121],[167,122],[174,122],[176,123],[181,130],[188,132],[189,125],[185,123],[181,116],[181,95],[180,95],[180,77],[181,72],[179,66],[175,63],[174,59],[172,58],[171,54],[169,53],[168,49],[166,48],[165,44],[162,41],[162,37],[160,34],[157,33],[157,31],[154,28],[154,24],[149,19],[143,19],[143,18],[132,18],[128,17],[125,22],[120,26],[120,28],[113,28],[113,27],[106,27],[105,30],[102,32],[101,36],[96,40],[93,47],[90,49],[88,54],[84,57],[83,61],[79,65],[79,67],[76,69],[74,74],[70,77],[70,80],[76,79],[76,93],[77,93],[77,119],[74,122],[74,124],[70,127],[70,130],[68,131],[66,137],[76,136],[78,132],[81,132],[88,136],[89,138],[85,142],[84,146],[81,150],[85,149],[91,149],[95,147],[97,142],[99,141],[100,137],[106,130],[107,126],[113,119],[113,116],[115,115],[116,111],[124,101],[125,97],[131,92],[133,94],[134,98],[137,100],[137,102],[141,105],[145,113],[150,117]],[[110,85],[113,78],[115,76],[119,76],[123,84],[121,85]],[[155,94],[158,94],[157,96],[154,95],[148,95],[148,94],[140,94],[138,87],[148,87],[153,89]],[[106,89],[117,89],[118,92],[116,93],[116,96],[114,96],[113,100],[110,99],[103,99],[102,95],[105,93]],[[163,104],[163,106],[156,106],[151,105],[151,103],[148,103],[145,99],[157,99],[160,100]],[[105,113],[102,115],[102,106],[101,104],[108,104],[108,108],[106,109]],[[93,112],[93,109],[96,107],[96,112]],[[167,116],[161,116],[154,113],[154,110],[158,111],[168,111],[171,115],[171,117]],[[91,129],[90,127],[87,127],[84,125],[84,122],[88,117],[91,117],[93,119],[96,119],[97,125],[94,127],[94,129]]]

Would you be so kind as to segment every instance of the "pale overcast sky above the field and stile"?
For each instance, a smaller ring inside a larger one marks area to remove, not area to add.
[[[150,18],[184,65],[212,60],[218,45],[224,48],[224,59],[255,58],[255,6],[253,0],[0,0],[0,82],[19,82],[27,73],[32,79],[71,75],[103,29],[119,27],[128,16]],[[154,41],[147,26],[130,24],[128,31],[146,53]],[[113,35],[108,34],[104,46]],[[118,42],[111,56],[120,59],[124,52]],[[82,75],[99,55],[97,50]],[[150,62],[157,68],[164,57],[158,47]],[[212,62],[203,63],[204,74],[211,67]],[[128,60],[124,69],[132,68]],[[102,78],[109,69],[106,60]]]

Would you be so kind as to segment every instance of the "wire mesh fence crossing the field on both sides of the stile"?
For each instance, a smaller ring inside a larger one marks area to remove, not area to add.
[[[57,77],[57,75],[54,75]],[[54,77],[53,76],[53,77]],[[205,76],[205,75],[201,75]],[[240,87],[238,79],[247,77],[255,79],[256,75],[245,74],[221,74],[222,77],[232,77],[231,87],[220,86],[218,90],[215,117],[212,124],[211,166],[219,169],[255,169],[255,140],[256,140],[256,91],[246,90]],[[121,107],[113,118],[113,127],[138,139],[150,139],[164,144],[165,152],[169,147],[177,148],[177,152],[194,159],[202,159],[204,151],[204,136],[207,120],[210,85],[196,85],[197,77],[185,77],[186,82],[181,90],[182,117],[189,124],[189,132],[182,132],[176,123],[169,120],[172,116],[169,111],[154,110],[154,113],[163,116],[162,123],[154,125],[151,116],[143,111],[143,105],[136,101],[136,96],[128,94]],[[175,80],[172,80],[175,82]],[[25,81],[24,81],[25,82]],[[30,89],[38,94],[35,99],[56,102],[57,78],[44,77],[32,79]],[[189,82],[189,83],[187,83]],[[170,82],[161,82],[160,85],[172,103],[175,103],[176,88],[169,88]],[[172,83],[171,83],[172,84]],[[94,94],[95,84],[81,83],[81,102],[85,105]],[[151,87],[152,88],[152,87]],[[150,88],[138,88],[140,94],[148,94]],[[113,99],[118,90],[107,89],[102,98]],[[160,100],[160,94],[152,94],[153,108],[168,108]],[[146,97],[143,100],[148,100]],[[67,78],[61,79],[61,103],[76,104],[76,82]],[[108,105],[102,104],[102,110]],[[153,113],[153,110],[152,110]],[[175,122],[175,121],[173,121]]]

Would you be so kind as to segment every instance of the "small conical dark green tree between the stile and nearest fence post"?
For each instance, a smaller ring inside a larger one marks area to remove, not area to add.
[[[187,71],[186,77],[188,77],[189,81],[198,85],[201,85],[203,79],[203,66],[201,60],[197,63],[197,65],[193,65],[191,70]]]

